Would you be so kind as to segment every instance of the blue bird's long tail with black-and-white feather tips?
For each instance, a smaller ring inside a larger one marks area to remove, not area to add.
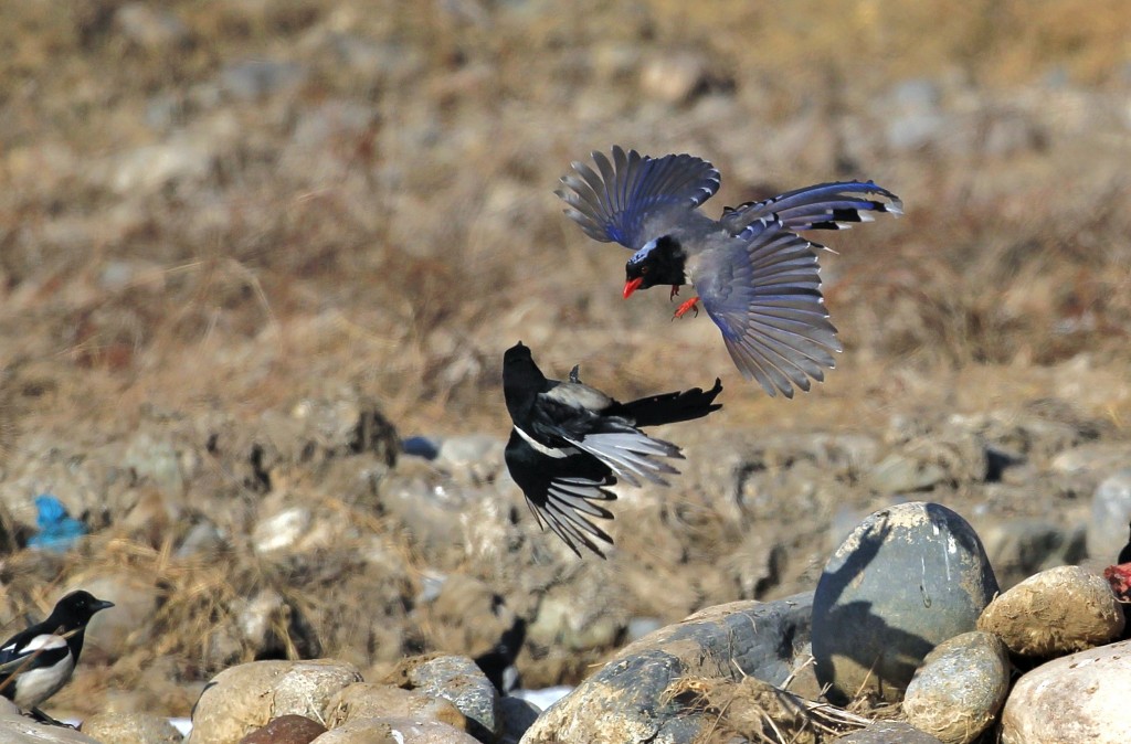
[[[787,191],[765,201],[726,207],[719,222],[732,235],[737,235],[759,219],[772,219],[775,216],[793,231],[846,230],[853,223],[873,222],[873,213],[898,216],[904,214],[904,202],[871,181],[843,181]]]

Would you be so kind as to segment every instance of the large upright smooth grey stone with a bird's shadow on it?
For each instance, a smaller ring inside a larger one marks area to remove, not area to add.
[[[974,630],[996,591],[982,542],[957,513],[914,502],[871,514],[829,559],[813,599],[829,700],[899,700],[931,649]]]

